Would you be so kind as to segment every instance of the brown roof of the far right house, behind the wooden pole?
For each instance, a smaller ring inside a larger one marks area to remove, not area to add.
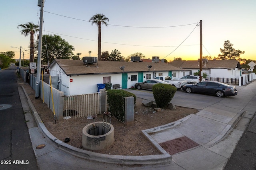
[[[173,66],[178,68],[199,68],[198,61],[172,61]],[[208,60],[205,64],[203,63],[202,68],[210,69],[210,68],[226,68],[226,69],[234,69],[241,68],[239,61],[236,60]]]

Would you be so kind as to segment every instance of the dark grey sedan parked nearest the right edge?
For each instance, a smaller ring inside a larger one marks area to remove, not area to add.
[[[182,87],[182,90],[187,93],[203,93],[203,94],[212,94],[218,97],[224,96],[236,96],[237,90],[235,86],[230,86],[225,83],[216,82],[216,81],[204,81],[198,82],[196,84],[186,84]]]

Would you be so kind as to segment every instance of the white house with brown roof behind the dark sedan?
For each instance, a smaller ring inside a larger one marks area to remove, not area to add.
[[[172,61],[175,67],[190,70],[189,74],[194,74],[200,69],[199,61]],[[202,72],[208,77],[239,78],[242,76],[242,67],[236,60],[202,60]]]

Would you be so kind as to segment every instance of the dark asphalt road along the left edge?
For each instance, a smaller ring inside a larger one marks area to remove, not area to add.
[[[18,92],[16,66],[0,71],[0,169],[38,169]]]

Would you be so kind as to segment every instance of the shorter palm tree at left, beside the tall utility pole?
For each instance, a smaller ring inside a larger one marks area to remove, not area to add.
[[[20,32],[25,37],[27,37],[28,34],[30,33],[30,58],[29,58],[29,62],[34,63],[34,33],[36,33],[36,31],[39,31],[39,29],[38,29],[39,25],[35,25],[32,22],[28,22],[28,23],[20,24],[20,25],[17,26],[17,28],[19,28],[19,27],[24,28]]]

